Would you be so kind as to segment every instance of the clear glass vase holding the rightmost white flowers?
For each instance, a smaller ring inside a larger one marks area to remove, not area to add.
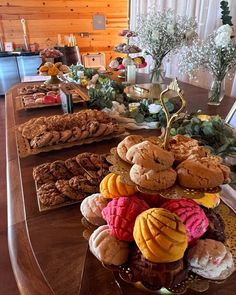
[[[208,105],[220,105],[225,95],[225,78],[214,77],[208,92]]]

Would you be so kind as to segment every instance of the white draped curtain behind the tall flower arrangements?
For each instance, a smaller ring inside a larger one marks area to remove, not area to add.
[[[136,17],[140,14],[147,14],[150,7],[157,7],[158,10],[172,9],[177,15],[194,16],[198,23],[197,33],[200,38],[204,39],[221,25],[221,0],[130,0],[130,29],[135,30]],[[230,14],[234,24],[234,32],[236,33],[236,1],[229,0]],[[150,61],[149,61],[150,62]],[[165,69],[167,77],[182,78],[178,71],[178,56],[166,60]],[[147,71],[147,69],[146,69]],[[197,80],[189,81],[182,80],[195,84],[200,87],[209,87],[210,75],[204,72],[199,72]],[[233,79],[226,79],[226,94],[236,96],[236,76]]]

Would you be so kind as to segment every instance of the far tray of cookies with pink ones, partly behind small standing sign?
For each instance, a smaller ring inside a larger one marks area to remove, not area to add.
[[[64,84],[68,93],[72,96],[73,103],[81,103],[89,100],[73,83]],[[59,85],[43,84],[28,85],[18,91],[16,97],[16,109],[35,109],[61,105]]]

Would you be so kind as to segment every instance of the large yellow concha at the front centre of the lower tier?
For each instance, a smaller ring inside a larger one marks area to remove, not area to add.
[[[151,208],[138,215],[133,235],[143,256],[156,263],[177,261],[187,248],[184,224],[163,208]]]

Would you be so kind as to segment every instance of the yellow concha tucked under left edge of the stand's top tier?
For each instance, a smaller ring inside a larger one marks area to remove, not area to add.
[[[133,185],[122,183],[120,175],[109,173],[100,183],[100,192],[105,198],[118,198],[133,195],[137,189]]]

